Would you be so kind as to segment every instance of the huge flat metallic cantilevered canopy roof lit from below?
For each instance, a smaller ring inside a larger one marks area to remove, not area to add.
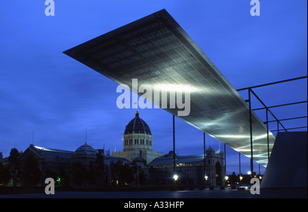
[[[118,84],[190,84],[190,114],[179,117],[234,150],[251,157],[249,108],[203,51],[160,10],[64,51]],[[147,99],[149,100],[149,99]],[[162,101],[160,97],[159,102]],[[154,104],[159,105],[159,102]],[[165,110],[177,115],[178,108]],[[253,159],[268,162],[267,130],[252,113]],[[274,144],[270,133],[270,151]]]

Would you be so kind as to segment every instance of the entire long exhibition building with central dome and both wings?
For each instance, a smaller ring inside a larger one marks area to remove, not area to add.
[[[22,174],[17,185],[44,186],[52,177],[65,186],[105,187],[112,185],[202,187],[224,185],[224,155],[209,147],[203,154],[179,156],[174,152],[153,152],[153,135],[148,124],[136,117],[129,121],[123,134],[123,152],[105,154],[84,143],[75,151],[55,150],[29,145],[20,154]],[[1,155],[0,155],[1,156]],[[64,183],[64,179],[69,182]],[[62,180],[62,181],[61,181]]]

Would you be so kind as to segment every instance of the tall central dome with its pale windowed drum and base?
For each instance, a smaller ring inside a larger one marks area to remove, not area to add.
[[[164,153],[153,152],[153,136],[149,125],[139,117],[138,111],[135,114],[123,134],[123,152],[112,152],[112,156],[123,157],[129,161],[142,158],[146,163],[150,163]]]

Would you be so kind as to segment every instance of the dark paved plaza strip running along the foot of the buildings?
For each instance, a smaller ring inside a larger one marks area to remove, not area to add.
[[[231,190],[198,190],[193,191],[55,191],[54,195],[45,193],[10,193],[0,194],[0,198],[307,198],[306,189],[261,189],[260,194],[252,195],[249,189],[244,191]]]

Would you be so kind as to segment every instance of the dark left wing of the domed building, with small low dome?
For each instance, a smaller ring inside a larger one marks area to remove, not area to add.
[[[101,157],[100,157],[101,156]],[[103,150],[95,150],[85,143],[77,150],[55,150],[51,148],[38,147],[33,144],[20,156],[21,170],[23,174],[18,185],[33,187],[44,186],[44,179],[48,177],[54,180],[70,179],[66,186],[74,186],[74,174],[87,174],[85,183],[92,185],[108,185],[108,167],[110,164],[129,163],[125,158],[105,156]],[[87,186],[87,185],[86,185]]]

